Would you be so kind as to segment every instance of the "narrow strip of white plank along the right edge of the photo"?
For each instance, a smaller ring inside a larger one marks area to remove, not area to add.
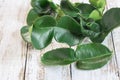
[[[115,0],[115,1],[108,0],[108,1],[109,1],[108,8],[120,7],[119,0]],[[116,28],[112,33],[113,33],[113,41],[114,41],[114,47],[115,47],[115,53],[116,53],[116,61],[118,65],[117,70],[120,78],[120,26]]]

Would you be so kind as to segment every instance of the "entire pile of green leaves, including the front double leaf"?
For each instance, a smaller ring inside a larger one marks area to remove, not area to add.
[[[112,52],[101,44],[106,36],[120,25],[120,8],[104,13],[105,0],[89,0],[87,3],[71,3],[61,0],[32,0],[27,16],[27,26],[22,27],[23,39],[34,48],[47,47],[54,38],[69,48],[46,52],[41,61],[45,65],[67,65],[76,62],[79,69],[97,69],[112,58]],[[91,43],[81,44],[85,38]],[[71,47],[77,46],[74,50]]]

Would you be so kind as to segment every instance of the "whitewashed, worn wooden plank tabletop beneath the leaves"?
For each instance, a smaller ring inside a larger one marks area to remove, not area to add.
[[[120,7],[120,1],[107,0],[106,9],[112,7]],[[114,52],[112,60],[103,68],[78,70],[74,63],[45,67],[40,56],[52,48],[66,45],[53,41],[38,51],[22,40],[20,28],[26,24],[30,8],[30,0],[0,0],[0,80],[120,80],[120,27],[103,42]]]

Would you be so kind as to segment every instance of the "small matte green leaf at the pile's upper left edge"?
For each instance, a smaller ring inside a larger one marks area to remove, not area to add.
[[[31,26],[34,23],[34,21],[39,17],[40,15],[34,9],[31,9],[27,16],[27,24]]]

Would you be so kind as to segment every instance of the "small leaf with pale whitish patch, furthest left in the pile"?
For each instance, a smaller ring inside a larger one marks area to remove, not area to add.
[[[21,28],[21,36],[23,40],[28,43],[31,43],[31,37],[30,37],[31,31],[32,31],[32,27],[24,26]]]

